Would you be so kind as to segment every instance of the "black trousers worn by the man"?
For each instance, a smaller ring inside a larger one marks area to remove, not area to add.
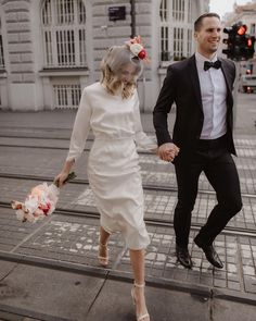
[[[191,215],[202,172],[215,189],[218,203],[196,235],[196,243],[200,246],[212,245],[229,220],[242,208],[238,171],[232,156],[227,151],[223,138],[199,140],[191,158],[175,164],[178,202],[175,209],[174,226],[176,243],[181,247],[187,247],[189,244]]]

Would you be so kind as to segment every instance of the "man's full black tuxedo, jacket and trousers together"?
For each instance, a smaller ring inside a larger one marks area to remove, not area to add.
[[[183,247],[189,243],[191,212],[202,172],[216,190],[218,203],[200,231],[199,244],[210,245],[242,207],[238,172],[231,157],[231,153],[235,155],[232,136],[232,88],[235,66],[232,61],[220,60],[227,85],[227,134],[223,137],[215,139],[216,141],[200,139],[204,112],[195,55],[168,67],[153,112],[158,145],[174,143],[180,148],[174,161],[178,183],[178,203],[174,223],[177,244]],[[167,126],[167,114],[172,103],[176,103],[176,122],[171,137]]]

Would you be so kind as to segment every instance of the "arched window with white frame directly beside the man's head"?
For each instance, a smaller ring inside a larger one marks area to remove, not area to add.
[[[192,0],[162,0],[161,61],[181,60],[192,51]]]

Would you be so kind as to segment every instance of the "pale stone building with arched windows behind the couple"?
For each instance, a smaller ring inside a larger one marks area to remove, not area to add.
[[[151,58],[139,81],[141,109],[152,110],[166,66],[193,53],[193,22],[208,2],[0,0],[0,108],[76,108],[99,79],[105,50],[135,30]]]

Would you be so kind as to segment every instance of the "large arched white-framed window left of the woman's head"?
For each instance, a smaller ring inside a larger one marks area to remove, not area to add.
[[[82,0],[44,0],[41,18],[44,66],[85,66],[86,8]]]

